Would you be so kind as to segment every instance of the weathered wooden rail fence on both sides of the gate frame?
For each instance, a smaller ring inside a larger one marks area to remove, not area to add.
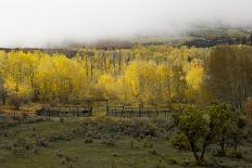
[[[118,118],[162,118],[171,119],[172,111],[168,107],[136,107],[136,106],[106,106],[106,116]],[[33,113],[43,117],[88,117],[92,114],[92,106],[43,106]],[[32,113],[14,112],[13,116],[26,116]]]

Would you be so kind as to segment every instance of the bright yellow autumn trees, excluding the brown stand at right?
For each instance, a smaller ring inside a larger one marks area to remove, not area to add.
[[[165,104],[178,99],[181,90],[197,100],[206,51],[137,46],[81,49],[72,59],[38,51],[0,52],[0,89],[38,101],[81,102],[105,96],[126,104]]]

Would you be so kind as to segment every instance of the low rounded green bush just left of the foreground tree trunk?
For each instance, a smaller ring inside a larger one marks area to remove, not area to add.
[[[176,133],[171,139],[171,143],[173,146],[175,146],[179,150],[189,150],[190,148],[190,143],[184,133]]]

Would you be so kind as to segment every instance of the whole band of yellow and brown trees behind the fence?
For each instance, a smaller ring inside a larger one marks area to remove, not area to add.
[[[136,46],[80,49],[73,57],[35,51],[0,52],[0,95],[83,103],[108,98],[128,105],[206,103],[241,108],[252,94],[252,47]]]

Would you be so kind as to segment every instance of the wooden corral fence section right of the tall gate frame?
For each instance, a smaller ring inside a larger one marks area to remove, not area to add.
[[[162,118],[171,119],[173,112],[166,107],[110,106],[108,116],[119,118]]]

